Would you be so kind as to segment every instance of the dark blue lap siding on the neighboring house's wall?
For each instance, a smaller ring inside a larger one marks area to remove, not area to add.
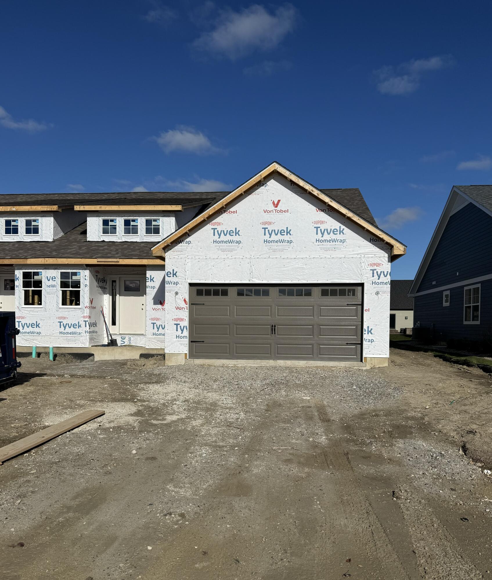
[[[443,306],[443,289],[415,296],[414,325],[433,325],[437,335],[446,339],[482,340],[492,329],[492,280],[480,284],[480,324],[464,324],[464,287],[466,280],[492,274],[492,216],[468,204],[454,213],[437,244],[418,292],[450,288],[450,305]],[[432,282],[435,282],[433,284]]]

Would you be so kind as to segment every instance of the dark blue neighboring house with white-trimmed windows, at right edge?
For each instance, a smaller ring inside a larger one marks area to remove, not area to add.
[[[409,296],[414,326],[442,340],[492,333],[492,185],[454,186]]]

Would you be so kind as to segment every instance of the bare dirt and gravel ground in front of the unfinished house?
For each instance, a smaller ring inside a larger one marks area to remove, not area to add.
[[[490,577],[482,371],[22,361],[0,445],[106,415],[0,467],[2,578]]]

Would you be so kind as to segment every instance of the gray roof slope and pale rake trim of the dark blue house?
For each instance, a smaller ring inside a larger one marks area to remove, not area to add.
[[[439,244],[439,240],[443,235],[444,228],[447,226],[447,222],[451,215],[453,215],[455,211],[455,207],[457,206],[457,202],[460,200],[460,196],[462,201],[464,202],[471,202],[472,204],[476,205],[477,208],[482,209],[482,211],[488,213],[492,216],[492,185],[455,185],[451,189],[451,193],[447,198],[446,205],[444,205],[444,209],[440,215],[439,221],[437,222],[436,228],[430,238],[429,245],[424,253],[424,257],[418,267],[417,274],[415,274],[415,278],[413,284],[410,287],[410,295],[415,296],[424,277],[425,271],[429,266],[430,260],[437,248],[437,244]],[[458,204],[458,207],[460,205]]]

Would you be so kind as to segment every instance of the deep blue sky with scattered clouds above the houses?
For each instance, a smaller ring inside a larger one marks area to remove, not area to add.
[[[492,182],[489,2],[0,4],[0,193],[359,187],[413,278]]]

